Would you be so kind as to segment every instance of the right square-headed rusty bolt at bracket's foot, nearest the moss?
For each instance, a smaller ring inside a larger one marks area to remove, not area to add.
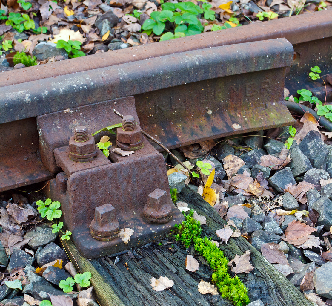
[[[172,207],[167,202],[165,190],[155,189],[147,197],[143,214],[148,222],[166,223],[172,219]]]

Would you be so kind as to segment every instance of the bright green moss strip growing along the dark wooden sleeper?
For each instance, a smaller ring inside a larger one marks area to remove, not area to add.
[[[182,224],[174,225],[174,239],[181,241],[186,248],[194,243],[195,252],[202,255],[214,271],[211,282],[216,285],[223,298],[229,299],[235,306],[247,305],[250,303],[248,289],[238,276],[233,278],[228,274],[228,259],[223,252],[210,238],[201,238],[202,228],[200,222],[193,218],[193,214],[194,211],[190,210]]]

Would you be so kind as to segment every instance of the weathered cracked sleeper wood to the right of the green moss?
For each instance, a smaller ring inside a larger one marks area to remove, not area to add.
[[[182,192],[178,194],[178,200],[187,202],[190,209],[194,209],[199,215],[206,216],[206,225],[202,226],[203,232],[208,237],[212,237],[213,240],[219,241],[220,249],[223,250],[229,260],[233,259],[235,254],[242,255],[245,251],[250,250],[250,260],[254,269],[248,274],[241,273],[238,276],[249,289],[248,294],[251,301],[261,299],[264,305],[274,306],[314,305],[243,237],[230,238],[227,242],[228,245],[221,244],[222,241],[216,236],[215,232],[223,228],[226,222],[198,193],[185,186]]]

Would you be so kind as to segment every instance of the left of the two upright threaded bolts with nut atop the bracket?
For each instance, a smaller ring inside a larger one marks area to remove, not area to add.
[[[95,138],[88,135],[88,129],[84,125],[77,126],[74,135],[69,139],[69,157],[73,161],[92,161],[97,155]]]

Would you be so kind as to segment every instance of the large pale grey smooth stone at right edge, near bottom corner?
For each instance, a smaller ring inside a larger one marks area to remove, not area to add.
[[[313,273],[313,285],[318,295],[332,299],[332,262],[322,264]]]

